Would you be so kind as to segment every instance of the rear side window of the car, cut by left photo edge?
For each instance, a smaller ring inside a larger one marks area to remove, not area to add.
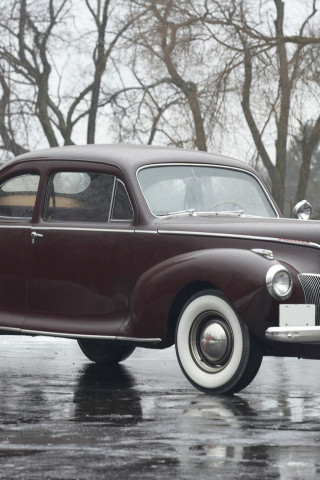
[[[25,174],[4,182],[0,186],[0,216],[32,218],[39,181],[39,175]]]

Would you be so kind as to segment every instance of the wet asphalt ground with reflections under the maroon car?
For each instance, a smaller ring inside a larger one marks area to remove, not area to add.
[[[241,394],[209,397],[174,349],[108,372],[76,342],[1,337],[0,478],[320,478],[320,363],[265,358]]]

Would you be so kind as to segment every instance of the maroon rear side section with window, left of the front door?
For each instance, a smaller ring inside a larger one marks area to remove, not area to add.
[[[26,313],[31,219],[38,172],[6,169],[0,178],[0,328],[19,331]]]

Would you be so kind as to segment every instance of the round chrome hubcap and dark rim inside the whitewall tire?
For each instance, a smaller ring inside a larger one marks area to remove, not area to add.
[[[229,362],[233,337],[228,321],[215,312],[204,312],[193,323],[190,351],[202,370],[215,373]]]

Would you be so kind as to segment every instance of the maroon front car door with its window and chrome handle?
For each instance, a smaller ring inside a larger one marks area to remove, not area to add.
[[[24,332],[115,336],[125,321],[133,210],[116,173],[91,163],[49,172]]]

